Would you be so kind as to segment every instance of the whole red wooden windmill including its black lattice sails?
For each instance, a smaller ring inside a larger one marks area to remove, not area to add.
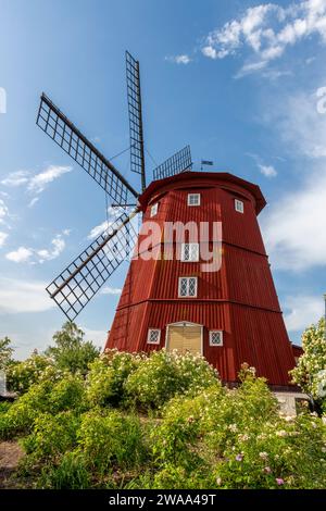
[[[126,72],[130,169],[140,175],[140,194],[41,96],[37,124],[103,188],[112,205],[125,208],[48,286],[50,297],[73,321],[125,259],[139,212],[143,225],[154,222],[162,233],[166,223],[221,222],[222,266],[215,272],[202,272],[200,244],[189,237],[180,247],[172,241],[171,252],[179,258],[164,257],[162,239],[150,248],[159,257],[143,258],[140,232],[106,347],[200,352],[225,382],[235,382],[248,362],[269,384],[288,385],[294,357],[256,220],[266,203],[260,188],[228,173],[192,172],[189,146],[156,167],[147,187],[139,62],[128,52]]]

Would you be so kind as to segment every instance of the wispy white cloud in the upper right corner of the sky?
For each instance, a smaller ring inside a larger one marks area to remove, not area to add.
[[[240,77],[261,70],[262,61],[278,59],[287,47],[312,35],[326,42],[326,0],[301,0],[288,8],[266,3],[247,9],[242,16],[211,32],[201,51],[211,59],[225,59],[247,48],[252,61],[239,72]]]

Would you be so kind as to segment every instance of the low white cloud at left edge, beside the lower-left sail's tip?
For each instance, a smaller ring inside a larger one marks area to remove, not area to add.
[[[0,277],[0,313],[42,312],[52,309],[46,284]]]

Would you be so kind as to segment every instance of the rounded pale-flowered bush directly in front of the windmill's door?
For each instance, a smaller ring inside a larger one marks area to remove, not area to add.
[[[196,395],[214,384],[216,372],[203,357],[160,350],[128,376],[125,389],[136,404],[158,409],[177,394]]]

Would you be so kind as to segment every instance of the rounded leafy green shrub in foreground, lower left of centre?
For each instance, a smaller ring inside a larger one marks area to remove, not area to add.
[[[139,420],[115,410],[93,410],[84,414],[77,436],[79,450],[100,474],[114,464],[133,466],[145,458]]]

